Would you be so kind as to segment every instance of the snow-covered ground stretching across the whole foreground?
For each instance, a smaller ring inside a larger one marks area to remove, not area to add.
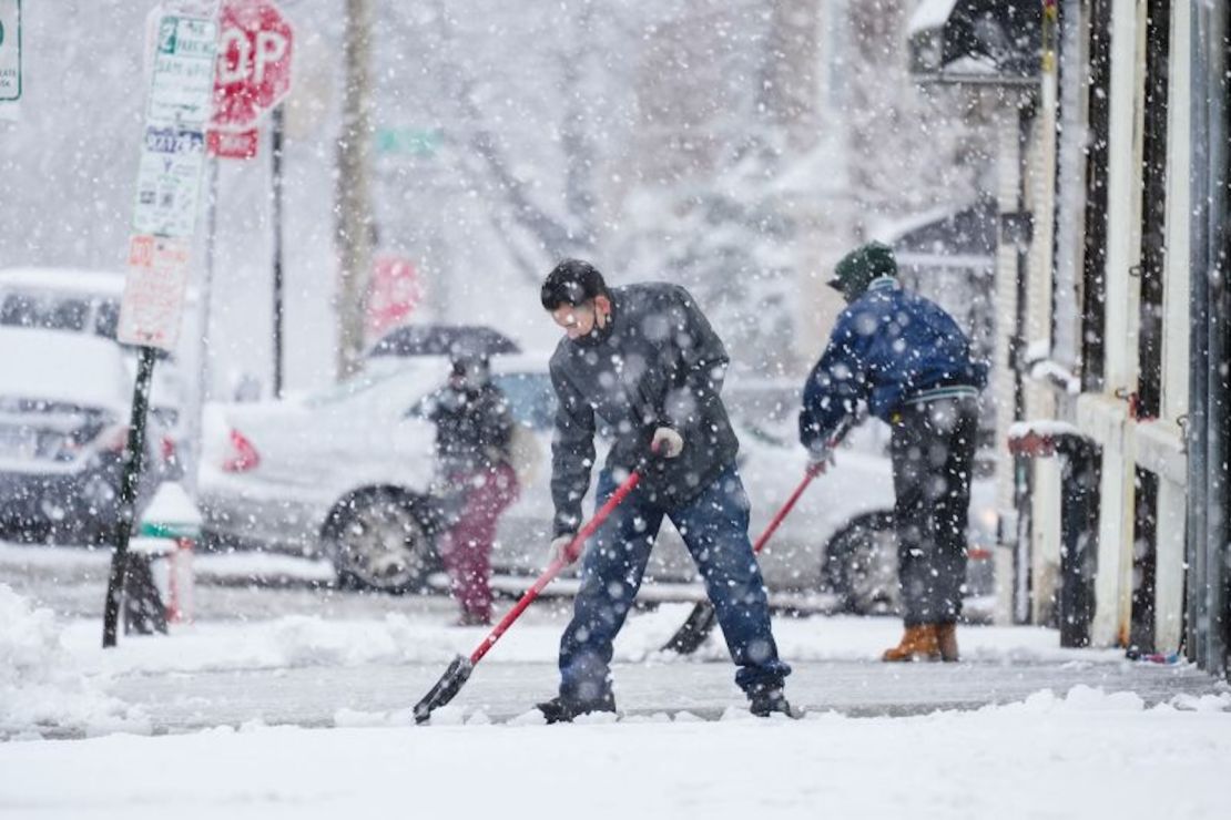
[[[874,660],[892,618],[779,617],[788,695],[808,716],[760,722],[713,641],[688,659],[656,652],[688,610],[662,605],[617,643],[620,720],[547,728],[531,708],[554,692],[564,626],[548,600],[415,727],[410,707],[485,634],[446,626],[447,597],[198,584],[196,623],[103,652],[105,568],[101,553],[0,545],[17,590],[0,588],[0,641],[26,661],[0,679],[6,818],[330,816],[400,799],[469,815],[547,795],[587,816],[1225,811],[1206,784],[1231,762],[1226,685],[1187,664],[1062,650],[1050,629],[969,627],[964,663],[896,666]],[[586,784],[613,762],[629,788],[591,803]]]

